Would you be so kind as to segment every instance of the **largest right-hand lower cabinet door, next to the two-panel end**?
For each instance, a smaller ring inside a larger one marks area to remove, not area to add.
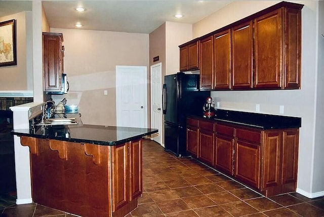
[[[260,144],[236,141],[235,174],[237,179],[252,187],[260,188]]]

